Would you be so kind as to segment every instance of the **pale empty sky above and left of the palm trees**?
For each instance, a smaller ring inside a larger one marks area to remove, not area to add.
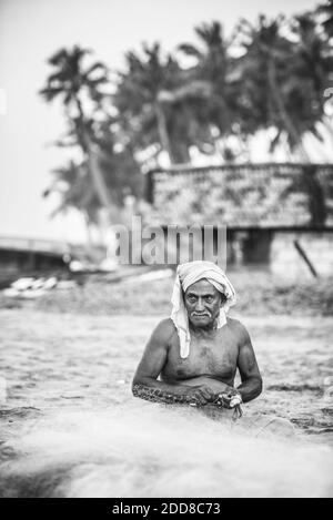
[[[63,130],[60,105],[43,103],[38,90],[46,60],[60,47],[80,44],[111,69],[142,42],[174,50],[195,41],[193,28],[222,22],[230,33],[240,18],[294,14],[311,0],[0,0],[0,237],[81,242],[80,215],[50,220],[54,201],[42,198],[63,152],[51,146]]]

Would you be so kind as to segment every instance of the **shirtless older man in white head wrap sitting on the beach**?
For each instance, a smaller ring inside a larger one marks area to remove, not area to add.
[[[235,292],[211,262],[176,271],[171,317],[154,329],[137,369],[133,395],[161,402],[236,408],[261,394],[262,378],[249,333],[226,318]],[[240,371],[241,385],[234,377]]]

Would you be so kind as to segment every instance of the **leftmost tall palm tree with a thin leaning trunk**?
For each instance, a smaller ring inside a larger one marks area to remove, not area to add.
[[[88,115],[84,101],[101,110],[105,94],[101,86],[108,82],[108,70],[101,62],[84,68],[83,60],[90,53],[87,49],[74,45],[72,50],[60,49],[49,60],[53,72],[47,79],[40,94],[47,102],[62,99],[65,114],[70,122],[70,134],[79,144],[87,171],[101,207],[111,212],[113,202],[99,165],[100,150],[94,139],[94,120]]]

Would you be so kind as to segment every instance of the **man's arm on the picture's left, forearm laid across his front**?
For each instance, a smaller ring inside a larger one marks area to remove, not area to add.
[[[170,385],[158,380],[168,358],[169,344],[174,334],[171,319],[163,319],[154,329],[135,371],[132,391],[135,397],[160,402],[204,405],[213,398],[205,386]]]

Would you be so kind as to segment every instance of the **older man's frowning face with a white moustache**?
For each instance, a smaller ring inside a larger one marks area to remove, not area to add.
[[[220,314],[221,294],[206,279],[190,285],[184,294],[189,320],[195,327],[210,327]]]

